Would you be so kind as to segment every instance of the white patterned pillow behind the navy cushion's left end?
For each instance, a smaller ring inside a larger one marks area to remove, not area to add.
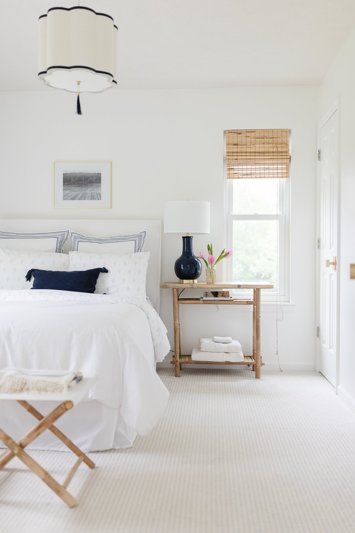
[[[26,281],[26,274],[31,268],[67,271],[69,255],[0,248],[0,289],[30,289],[34,280]]]

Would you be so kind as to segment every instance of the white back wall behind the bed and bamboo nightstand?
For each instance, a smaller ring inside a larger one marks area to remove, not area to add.
[[[74,113],[76,96],[54,90],[1,93],[0,104],[1,217],[162,219],[165,200],[208,200],[211,235],[194,237],[195,252],[207,241],[216,250],[225,245],[224,130],[291,128],[291,301],[296,306],[279,325],[279,354],[284,368],[315,367],[318,88],[111,91],[82,95],[81,117]],[[55,159],[111,159],[112,209],[53,209]],[[174,280],[180,249],[179,236],[163,236],[163,280]],[[244,353],[251,353],[249,313],[184,306],[180,315],[183,353],[211,333],[233,334]],[[167,290],[161,316],[172,344]],[[276,368],[275,320],[275,312],[262,310],[262,357],[268,368]]]

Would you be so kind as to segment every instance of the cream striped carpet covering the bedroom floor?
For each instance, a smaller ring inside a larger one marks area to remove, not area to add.
[[[133,448],[89,454],[70,510],[16,458],[0,531],[353,533],[355,415],[312,372],[160,369],[171,398]],[[62,480],[68,454],[31,451]],[[70,461],[74,461],[73,456]]]

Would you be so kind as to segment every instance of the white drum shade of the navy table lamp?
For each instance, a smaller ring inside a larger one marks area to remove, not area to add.
[[[208,201],[178,200],[164,204],[164,233],[210,232],[210,203]]]

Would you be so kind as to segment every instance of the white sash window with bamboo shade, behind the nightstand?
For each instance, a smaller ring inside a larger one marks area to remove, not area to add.
[[[253,132],[260,131],[265,135],[265,132],[279,130],[253,130]],[[284,131],[287,132],[287,151],[289,151],[288,130]],[[271,176],[286,175],[286,173],[288,176],[290,156],[288,155],[287,171],[285,159],[282,161],[283,168],[280,171],[275,152],[270,156],[268,149],[264,150],[265,145],[261,147],[258,144],[257,148],[262,149],[258,152],[254,147],[254,152],[251,155],[249,152],[247,157],[243,148],[243,160],[238,165],[241,151],[235,149],[234,142],[234,154],[230,157],[228,133],[226,132],[226,173],[233,173],[234,176],[237,174],[238,177],[226,180],[227,247],[233,249],[233,260],[226,261],[227,279],[246,282],[269,281],[274,285],[274,289],[263,292],[263,300],[276,301],[277,298],[280,301],[288,301],[290,187],[287,178]],[[260,163],[265,152],[268,152],[267,164],[265,161]],[[246,179],[240,179],[245,169],[248,176],[244,175],[242,177]],[[249,179],[251,173],[253,177]],[[256,177],[258,175],[263,177]],[[234,295],[249,297],[243,289],[236,289]]]

